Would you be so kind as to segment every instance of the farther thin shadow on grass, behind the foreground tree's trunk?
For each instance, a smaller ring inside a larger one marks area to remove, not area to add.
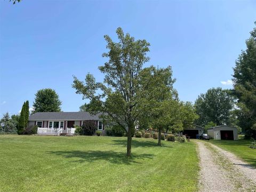
[[[113,140],[115,143],[112,145],[121,145],[123,147],[127,146],[127,140],[122,140],[122,139],[115,139]],[[132,140],[132,148],[133,147],[159,147],[157,146],[157,143],[154,141],[145,141],[145,140]],[[170,147],[170,145],[166,145],[165,143],[161,144],[161,147]]]

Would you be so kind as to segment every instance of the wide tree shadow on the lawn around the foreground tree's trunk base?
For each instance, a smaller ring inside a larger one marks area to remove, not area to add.
[[[127,158],[125,153],[115,152],[115,151],[100,151],[100,150],[71,150],[71,151],[47,151],[47,154],[60,155],[65,158],[79,158],[73,162],[94,162],[99,160],[108,161],[114,164],[127,164],[140,163],[136,160],[138,159],[152,159],[155,155],[153,154],[132,154],[132,157]]]

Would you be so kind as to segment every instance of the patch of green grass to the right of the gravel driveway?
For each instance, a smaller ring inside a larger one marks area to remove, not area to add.
[[[231,153],[256,167],[256,149],[249,147],[252,141],[239,139],[235,141],[210,140],[210,142],[222,149],[230,151]]]

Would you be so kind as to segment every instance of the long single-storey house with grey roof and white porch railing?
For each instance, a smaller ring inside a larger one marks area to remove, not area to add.
[[[75,126],[82,126],[86,121],[93,121],[98,130],[104,132],[99,114],[88,112],[38,112],[29,116],[29,126],[37,125],[38,134],[74,134]]]

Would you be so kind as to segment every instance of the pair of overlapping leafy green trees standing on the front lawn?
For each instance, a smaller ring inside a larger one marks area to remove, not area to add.
[[[96,82],[93,75],[87,74],[85,82],[74,77],[73,87],[83,99],[90,100],[81,109],[92,114],[103,113],[105,121],[125,130],[126,155],[131,156],[132,134],[137,125],[150,124],[159,131],[181,129],[192,124],[197,115],[191,103],[179,101],[171,67],[143,68],[149,61],[150,44],[145,39],[135,41],[129,34],[124,35],[121,28],[116,34],[117,43],[105,35],[109,52],[103,53],[103,57],[108,61],[99,67],[105,75],[104,81]]]

